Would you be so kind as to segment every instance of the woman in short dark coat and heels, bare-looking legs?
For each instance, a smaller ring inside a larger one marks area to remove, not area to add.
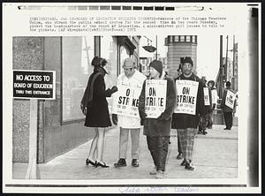
[[[104,76],[107,73],[103,68],[107,64],[105,59],[94,57],[91,64],[94,66],[94,72],[88,79],[87,88],[81,101],[81,109],[86,115],[85,126],[95,127],[95,137],[92,140],[86,164],[108,168],[109,166],[103,162],[105,127],[111,126],[106,97],[115,93],[117,87],[105,89]]]

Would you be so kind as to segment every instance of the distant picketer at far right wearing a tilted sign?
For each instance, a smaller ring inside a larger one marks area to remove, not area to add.
[[[221,102],[221,108],[223,109],[223,117],[225,122],[224,130],[231,130],[233,124],[233,113],[236,111],[236,94],[231,89],[231,82],[225,83],[225,89],[223,91],[223,99]]]

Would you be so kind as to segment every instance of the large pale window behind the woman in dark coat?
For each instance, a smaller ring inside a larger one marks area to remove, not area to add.
[[[93,72],[94,36],[62,38],[63,122],[83,119],[80,101]]]

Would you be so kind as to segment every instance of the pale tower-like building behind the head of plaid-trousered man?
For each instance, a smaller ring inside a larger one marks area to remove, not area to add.
[[[170,76],[178,77],[178,66],[182,57],[192,57],[193,72],[197,68],[197,35],[169,35],[165,38],[168,47],[167,66]]]

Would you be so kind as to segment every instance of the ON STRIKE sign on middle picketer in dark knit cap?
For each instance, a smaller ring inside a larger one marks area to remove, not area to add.
[[[145,109],[148,118],[157,118],[166,106],[167,80],[147,79]]]

